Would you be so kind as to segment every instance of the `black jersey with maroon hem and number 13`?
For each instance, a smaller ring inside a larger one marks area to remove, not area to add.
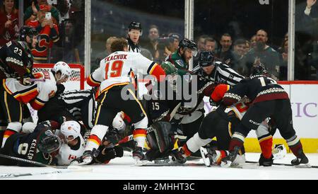
[[[225,105],[237,103],[247,96],[252,103],[271,101],[276,99],[288,99],[288,93],[276,80],[265,75],[255,75],[243,79],[239,84],[227,91],[223,98]]]

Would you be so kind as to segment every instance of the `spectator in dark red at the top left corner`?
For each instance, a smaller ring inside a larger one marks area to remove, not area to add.
[[[4,0],[0,8],[0,47],[18,38],[18,10],[14,0]]]

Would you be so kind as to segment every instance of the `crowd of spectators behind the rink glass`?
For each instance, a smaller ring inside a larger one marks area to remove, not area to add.
[[[317,39],[317,30],[315,30],[316,28],[314,27],[317,23],[318,6],[316,0],[299,1],[303,1],[302,4],[305,6],[298,6],[300,11],[296,13],[296,19],[298,21],[296,24],[298,25],[296,25],[295,39],[295,80],[318,80],[318,46],[317,41],[315,41]],[[18,37],[18,1],[0,0],[0,2],[0,45],[4,45],[6,42]],[[106,2],[107,5],[111,5],[109,7],[110,10],[107,9],[107,11],[101,10],[102,12],[98,12],[98,14],[102,13],[102,17],[98,18],[95,16],[97,13],[95,14],[92,11],[92,31],[100,31],[99,33],[102,37],[96,42],[100,43],[100,45],[105,45],[102,46],[104,48],[99,47],[96,51],[94,48],[95,42],[92,43],[92,71],[99,65],[100,59],[110,54],[110,44],[114,37],[126,35],[126,23],[124,23],[124,21],[119,23],[118,20],[121,17],[117,15],[119,14],[123,18],[128,17],[128,15],[124,15],[124,12],[116,13],[116,15],[114,11],[124,6],[135,8],[131,7],[129,2],[124,1],[112,2],[95,0],[92,4],[100,5]],[[174,2],[169,8],[170,12],[165,14],[176,17],[179,16],[182,10],[172,9],[174,11],[171,11],[173,6],[177,7],[184,4],[178,2]],[[122,7],[119,5],[122,5]],[[55,63],[59,60],[63,60],[70,63],[83,63],[84,6],[85,4],[82,0],[24,1],[23,24],[33,25],[40,32],[37,47],[33,49],[35,62]],[[156,7],[151,3],[149,3],[148,6],[153,13],[162,13],[163,11],[161,6]],[[127,13],[129,13],[129,11],[127,11]],[[213,14],[211,18],[213,18]],[[236,17],[236,15],[233,17]],[[211,18],[208,19],[211,20]],[[153,19],[155,19],[155,17]],[[233,18],[233,20],[235,20],[235,18]],[[95,28],[94,25],[100,23],[100,21],[107,21],[107,27],[109,26],[109,29]],[[113,21],[112,25],[110,25],[110,21]],[[219,23],[222,22],[223,20],[220,20]],[[184,38],[184,32],[179,29],[179,26],[175,29],[168,29],[168,25],[165,26],[162,23],[153,23],[151,21],[143,23],[143,21],[141,21],[141,24],[143,25],[143,35],[141,35],[139,40],[141,53],[145,57],[155,60],[155,62],[163,62],[165,57],[177,50],[179,40]],[[249,69],[253,64],[262,63],[266,65],[271,74],[276,76],[279,80],[286,80],[288,66],[288,34],[286,31],[285,36],[280,38],[276,37],[276,43],[273,44],[273,40],[271,40],[273,35],[268,33],[271,30],[266,28],[261,29],[261,27],[259,27],[257,31],[250,32],[249,35],[244,35],[242,30],[237,28],[239,24],[240,23],[225,24],[231,25],[231,29],[236,29],[234,31],[224,30],[216,33],[214,30],[211,32],[213,34],[208,34],[208,32],[203,30],[203,32],[196,33],[194,40],[198,44],[199,52],[201,50],[214,52],[220,61],[225,62],[243,75],[249,74]],[[119,25],[122,27],[119,27]],[[122,29],[120,33],[116,33],[116,30],[111,28]],[[252,33],[254,35],[251,36]],[[94,33],[92,39],[94,40]],[[278,44],[277,42],[281,43]],[[197,57],[193,57],[194,67],[196,63]]]

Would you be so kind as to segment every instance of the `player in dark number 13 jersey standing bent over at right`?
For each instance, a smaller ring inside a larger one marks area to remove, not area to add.
[[[288,147],[297,157],[291,161],[291,164],[310,167],[308,158],[303,152],[302,143],[293,129],[293,115],[288,93],[274,79],[271,79],[262,64],[253,67],[249,78],[242,80],[225,93],[223,104],[232,105],[240,101],[243,96],[247,96],[252,101],[252,106],[236,127],[230,140],[230,154],[222,159],[221,166],[229,166],[235,160],[250,130],[256,130],[263,120],[272,118],[276,121],[276,126]]]

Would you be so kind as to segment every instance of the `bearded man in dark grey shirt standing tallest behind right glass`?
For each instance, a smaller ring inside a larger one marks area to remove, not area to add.
[[[280,59],[278,52],[272,47],[266,44],[268,36],[265,30],[257,31],[257,42],[254,48],[250,50],[245,59],[245,76],[251,74],[251,68],[258,64],[264,64],[264,66],[269,70],[270,74],[279,77]]]

